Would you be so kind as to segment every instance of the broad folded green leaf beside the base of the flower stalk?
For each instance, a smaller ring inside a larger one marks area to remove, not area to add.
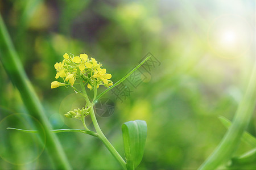
[[[129,121],[122,125],[123,146],[127,169],[135,169],[141,163],[147,138],[147,124],[142,120]]]

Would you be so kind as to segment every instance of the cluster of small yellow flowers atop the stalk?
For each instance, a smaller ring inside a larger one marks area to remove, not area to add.
[[[109,80],[112,75],[106,73],[106,69],[101,69],[102,64],[98,63],[94,58],[88,58],[87,54],[80,56],[69,56],[67,53],[63,55],[62,62],[55,63],[54,67],[57,71],[55,78],[63,78],[64,83],[54,81],[51,83],[51,88],[60,86],[73,86],[76,79],[82,79],[88,83],[89,89],[104,85],[112,86],[113,82]]]

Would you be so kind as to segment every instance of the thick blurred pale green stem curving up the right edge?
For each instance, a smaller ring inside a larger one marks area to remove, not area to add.
[[[249,84],[241,103],[238,105],[233,124],[222,139],[212,155],[201,165],[199,169],[215,169],[221,163],[227,162],[241,141],[243,132],[249,124],[256,102],[256,60],[251,73]]]

